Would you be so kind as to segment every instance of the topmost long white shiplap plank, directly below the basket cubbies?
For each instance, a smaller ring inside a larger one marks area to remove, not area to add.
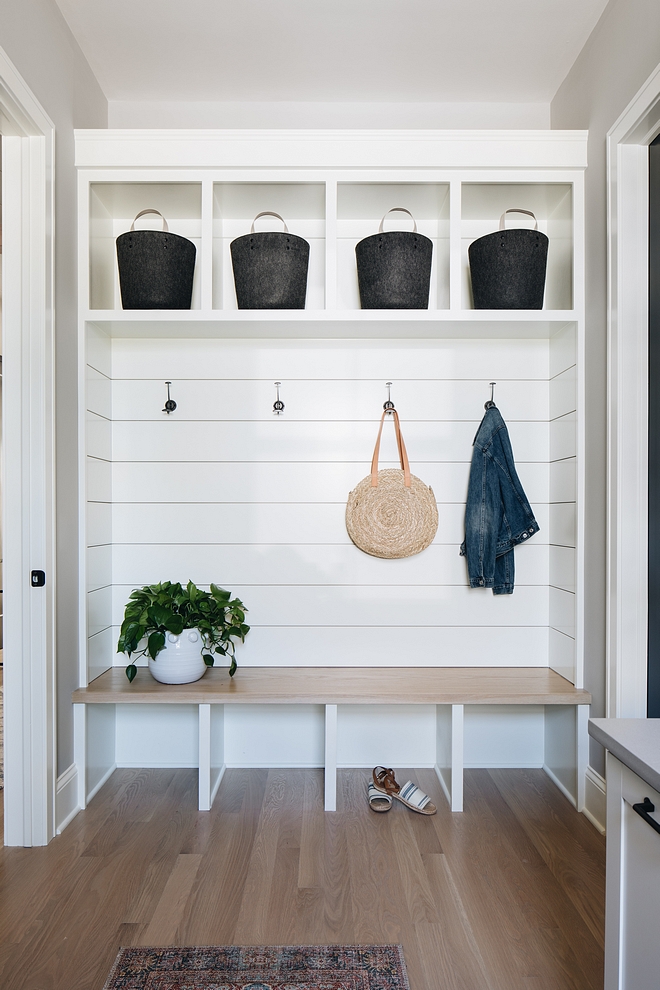
[[[549,376],[547,340],[186,340],[115,339],[113,377],[382,379],[537,379]],[[99,370],[103,370],[102,368]],[[559,369],[561,371],[565,368]],[[382,402],[382,400],[381,400]]]

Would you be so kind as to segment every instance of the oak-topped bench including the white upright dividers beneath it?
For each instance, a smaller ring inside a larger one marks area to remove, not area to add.
[[[83,709],[90,704],[197,705],[201,811],[210,809],[225,769],[224,705],[325,707],[326,811],[336,809],[338,705],[435,705],[436,773],[452,811],[462,811],[465,705],[577,706],[584,728],[579,733],[586,738],[591,695],[547,667],[242,667],[231,679],[226,670],[211,669],[201,680],[180,685],[160,684],[144,668],[129,684],[123,668],[114,667],[74,691],[73,702]]]

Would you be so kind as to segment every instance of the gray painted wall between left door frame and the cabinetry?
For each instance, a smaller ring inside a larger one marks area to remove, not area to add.
[[[106,127],[108,104],[53,0],[0,0],[0,45],[56,128],[57,772],[73,762],[78,685],[77,259],[74,127]]]

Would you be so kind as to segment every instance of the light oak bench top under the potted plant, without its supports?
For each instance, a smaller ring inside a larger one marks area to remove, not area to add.
[[[123,667],[73,692],[76,704],[588,705],[588,691],[547,667],[241,667],[159,684]]]

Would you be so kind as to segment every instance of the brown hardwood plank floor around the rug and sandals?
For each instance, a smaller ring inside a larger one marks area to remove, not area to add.
[[[120,945],[397,942],[411,990],[601,990],[605,840],[540,770],[468,770],[465,812],[374,814],[368,771],[117,771],[44,849],[0,852],[0,986],[101,990]]]

